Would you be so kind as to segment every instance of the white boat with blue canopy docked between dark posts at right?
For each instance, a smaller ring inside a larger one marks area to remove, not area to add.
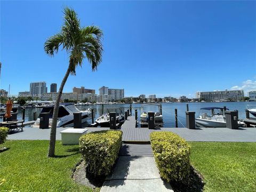
[[[201,108],[202,113],[195,119],[196,123],[204,127],[226,127],[225,110],[221,107],[204,107]],[[245,123],[237,121],[238,126],[243,126]]]

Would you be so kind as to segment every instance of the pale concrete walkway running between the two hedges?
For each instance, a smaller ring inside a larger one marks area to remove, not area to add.
[[[158,173],[154,157],[120,156],[112,174],[108,175],[101,192],[173,191]]]

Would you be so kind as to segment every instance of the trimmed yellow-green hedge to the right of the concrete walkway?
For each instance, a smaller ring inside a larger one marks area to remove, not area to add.
[[[190,170],[190,146],[172,132],[150,134],[151,147],[161,177],[168,182],[186,181]]]

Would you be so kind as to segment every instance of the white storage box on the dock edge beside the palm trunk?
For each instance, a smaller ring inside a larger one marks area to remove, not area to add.
[[[86,134],[88,129],[74,129],[68,128],[61,131],[61,142],[62,145],[77,145],[79,144],[79,138]]]

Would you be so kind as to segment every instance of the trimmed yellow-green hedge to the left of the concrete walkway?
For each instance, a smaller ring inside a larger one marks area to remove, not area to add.
[[[87,169],[94,176],[108,175],[122,145],[122,131],[91,132],[79,139],[80,151]]]

